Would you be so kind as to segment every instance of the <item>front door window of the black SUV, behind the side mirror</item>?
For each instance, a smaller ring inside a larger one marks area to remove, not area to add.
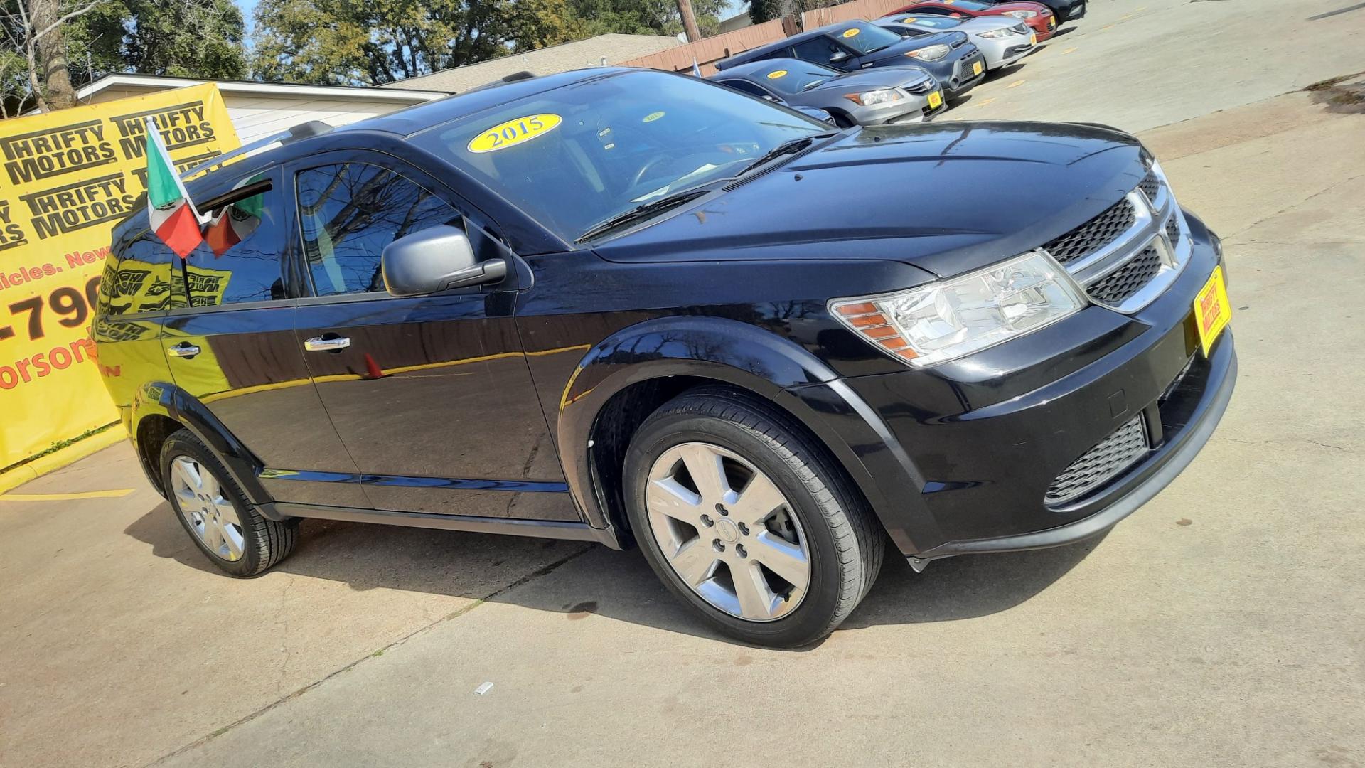
[[[298,187],[303,253],[319,297],[382,291],[384,246],[440,224],[463,228],[456,209],[379,165],[308,168]]]

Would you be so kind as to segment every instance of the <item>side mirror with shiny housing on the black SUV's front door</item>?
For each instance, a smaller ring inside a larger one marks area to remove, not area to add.
[[[394,297],[420,297],[495,283],[508,275],[502,258],[478,261],[470,238],[456,227],[431,227],[399,238],[379,254],[384,287]]]

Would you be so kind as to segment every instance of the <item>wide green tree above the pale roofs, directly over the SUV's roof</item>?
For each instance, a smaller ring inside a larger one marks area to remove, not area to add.
[[[565,0],[262,0],[253,71],[384,85],[586,36]]]

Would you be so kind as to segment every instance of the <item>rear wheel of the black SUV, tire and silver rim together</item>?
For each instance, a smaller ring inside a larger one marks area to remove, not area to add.
[[[285,559],[299,521],[269,521],[247,502],[222,461],[188,429],[161,447],[161,484],[180,526],[222,573],[254,577]]]

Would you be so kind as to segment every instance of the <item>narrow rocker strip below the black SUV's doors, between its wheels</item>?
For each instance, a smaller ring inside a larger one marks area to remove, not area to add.
[[[605,543],[603,537],[610,536],[610,532],[594,529],[586,522],[478,518],[468,515],[437,515],[431,512],[396,512],[388,510],[360,510],[355,507],[291,504],[285,502],[272,502],[269,504],[261,504],[258,508],[261,511],[261,517],[272,521],[283,521],[288,518],[317,518],[325,521],[405,525],[408,527],[433,527],[440,530],[498,533],[502,536],[564,538],[571,541]]]

